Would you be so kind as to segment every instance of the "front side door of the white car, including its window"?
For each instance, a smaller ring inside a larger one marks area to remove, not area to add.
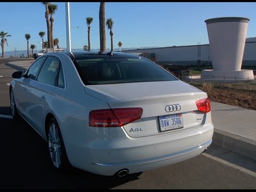
[[[30,104],[27,103],[28,100],[27,98],[30,97],[30,92],[28,92],[27,90],[30,90],[29,86],[31,84],[31,82],[36,81],[36,77],[38,74],[39,69],[41,68],[44,60],[46,58],[40,58],[38,60],[36,60],[27,70],[25,76],[23,76],[21,78],[20,81],[17,81],[15,87],[14,87],[14,91],[16,93],[16,95],[18,95],[16,99],[16,106],[19,109],[21,115],[24,118],[28,118],[28,114],[26,111],[27,106],[29,106]],[[28,120],[28,119],[27,119]]]

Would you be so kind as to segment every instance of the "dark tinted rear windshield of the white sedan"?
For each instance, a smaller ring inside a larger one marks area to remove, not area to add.
[[[85,85],[178,80],[143,57],[94,55],[79,57],[74,63]]]

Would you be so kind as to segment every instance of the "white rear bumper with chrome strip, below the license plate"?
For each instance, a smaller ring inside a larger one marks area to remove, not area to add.
[[[74,153],[68,152],[71,150],[67,152],[70,163],[85,171],[114,175],[121,169],[127,169],[129,173],[135,173],[200,155],[211,145],[212,135],[213,125],[207,124],[177,133],[144,138],[130,138],[126,135],[118,140],[94,140],[89,146],[72,146]]]

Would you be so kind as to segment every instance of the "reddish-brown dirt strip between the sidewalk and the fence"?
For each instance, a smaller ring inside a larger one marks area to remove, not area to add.
[[[218,87],[213,87],[212,89],[207,89],[207,87],[202,86],[196,87],[205,91],[208,94],[210,101],[256,110],[255,91],[243,91]]]

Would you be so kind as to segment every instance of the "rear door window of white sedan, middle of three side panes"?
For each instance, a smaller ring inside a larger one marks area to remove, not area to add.
[[[57,81],[60,60],[55,57],[48,57],[40,70],[37,81],[49,85],[55,85]]]

